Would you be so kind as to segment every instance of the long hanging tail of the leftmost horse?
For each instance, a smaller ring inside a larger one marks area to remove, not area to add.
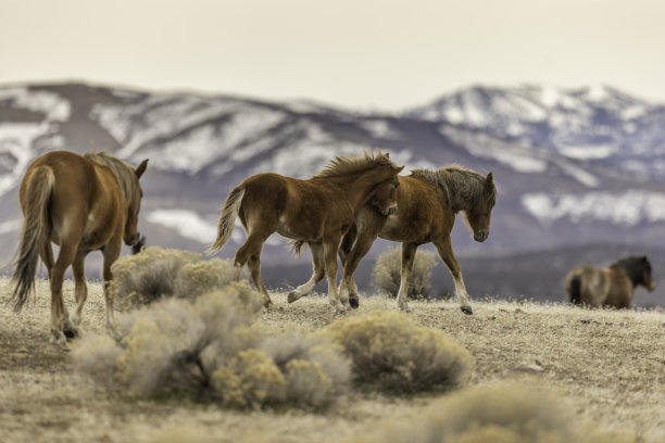
[[[21,232],[16,271],[12,277],[12,280],[16,283],[12,296],[15,301],[14,311],[16,312],[21,311],[28,294],[35,288],[39,253],[45,243],[49,241],[49,203],[55,176],[50,167],[39,166],[30,174],[28,180],[23,201],[25,220]]]

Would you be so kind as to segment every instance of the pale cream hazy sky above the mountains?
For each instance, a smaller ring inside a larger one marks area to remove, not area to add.
[[[0,84],[386,111],[473,84],[606,84],[665,102],[663,0],[0,0]]]

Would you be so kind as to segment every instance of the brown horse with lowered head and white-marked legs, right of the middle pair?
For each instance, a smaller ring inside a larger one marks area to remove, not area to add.
[[[449,166],[436,170],[414,169],[411,176],[399,177],[399,181],[397,214],[386,217],[371,205],[365,205],[355,214],[354,227],[342,240],[340,256],[344,273],[340,284],[341,301],[357,307],[353,273],[374,240],[380,237],[402,242],[401,281],[397,298],[402,311],[409,311],[406,294],[416,249],[431,242],[453,277],[462,311],[473,314],[462,269],[453,254],[450,233],[456,214],[462,211],[474,239],[479,242],[487,240],[491,211],[497,201],[492,173],[484,177],[461,166]],[[293,251],[298,252],[301,246],[302,242],[297,242]],[[316,254],[316,251],[312,250],[312,253]],[[302,295],[305,293],[293,293],[289,301],[296,301]]]

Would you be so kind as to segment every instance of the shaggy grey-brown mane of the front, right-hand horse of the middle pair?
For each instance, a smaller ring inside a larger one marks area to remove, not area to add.
[[[460,165],[441,166],[437,169],[417,168],[411,172],[411,176],[440,187],[455,212],[469,210],[469,204],[478,201],[485,192],[486,177]],[[492,187],[492,192],[490,198],[495,199],[495,187]]]

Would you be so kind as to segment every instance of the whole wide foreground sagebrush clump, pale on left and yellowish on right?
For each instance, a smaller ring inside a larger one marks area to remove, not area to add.
[[[188,395],[241,408],[330,404],[350,379],[340,347],[296,327],[268,337],[255,322],[261,306],[248,281],[193,302],[164,299],[127,315],[117,341],[85,337],[74,357],[98,383],[135,396]]]

